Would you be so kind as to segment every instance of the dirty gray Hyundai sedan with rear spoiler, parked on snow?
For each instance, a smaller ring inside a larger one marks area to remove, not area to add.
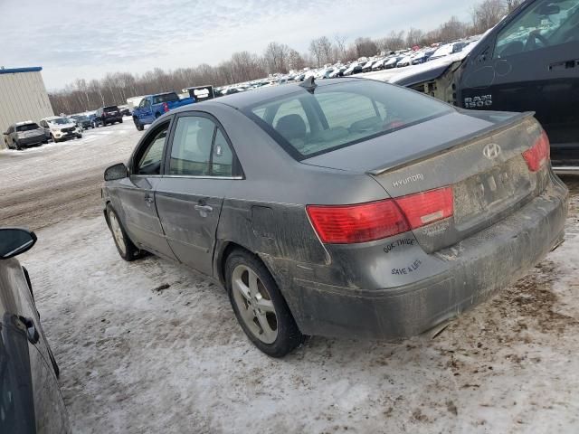
[[[459,315],[563,241],[567,210],[532,113],[360,79],[171,111],[102,195],[123,259],[218,280],[278,357],[304,335],[398,338]]]

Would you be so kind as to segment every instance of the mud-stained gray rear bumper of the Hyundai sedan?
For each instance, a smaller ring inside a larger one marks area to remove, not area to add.
[[[302,333],[395,339],[419,335],[507,287],[564,238],[567,189],[546,192],[490,228],[435,253],[441,274],[396,288],[342,288],[294,277],[286,296]]]

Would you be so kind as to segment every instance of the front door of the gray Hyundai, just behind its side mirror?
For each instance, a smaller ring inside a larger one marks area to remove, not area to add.
[[[131,241],[159,256],[176,259],[166,242],[155,204],[169,127],[170,120],[166,120],[147,132],[130,164],[130,175],[109,190],[113,207]]]

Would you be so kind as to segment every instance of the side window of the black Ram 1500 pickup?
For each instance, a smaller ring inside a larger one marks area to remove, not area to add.
[[[579,0],[541,0],[517,16],[500,33],[493,58],[579,42]]]

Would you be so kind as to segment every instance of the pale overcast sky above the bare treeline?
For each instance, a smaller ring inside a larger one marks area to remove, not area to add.
[[[216,64],[268,42],[380,37],[470,19],[479,0],[0,0],[0,65],[42,66],[49,90],[106,72]]]

